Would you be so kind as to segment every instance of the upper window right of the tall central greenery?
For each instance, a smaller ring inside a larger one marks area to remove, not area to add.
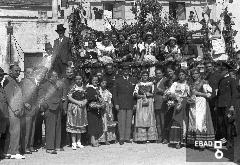
[[[186,20],[185,2],[169,2],[170,19]]]

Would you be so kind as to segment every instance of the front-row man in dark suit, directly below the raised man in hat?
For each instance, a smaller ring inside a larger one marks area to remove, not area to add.
[[[40,106],[45,112],[46,152],[57,154],[61,143],[61,109],[63,88],[56,71],[49,73],[49,79],[39,89]]]

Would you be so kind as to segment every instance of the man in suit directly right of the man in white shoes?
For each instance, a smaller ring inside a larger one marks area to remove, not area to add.
[[[25,154],[36,152],[33,148],[35,121],[37,112],[37,90],[38,84],[35,81],[32,68],[26,68],[25,78],[21,81],[24,116],[21,119],[21,142]]]

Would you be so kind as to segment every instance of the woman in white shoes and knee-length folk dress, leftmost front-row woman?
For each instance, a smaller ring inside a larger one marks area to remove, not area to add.
[[[86,89],[81,75],[75,77],[75,84],[68,94],[67,132],[72,136],[72,149],[84,148],[81,144],[81,134],[86,132],[87,110]]]

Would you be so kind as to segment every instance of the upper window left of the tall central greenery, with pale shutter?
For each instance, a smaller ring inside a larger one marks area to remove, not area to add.
[[[104,12],[113,19],[125,18],[125,4],[124,2],[103,2]],[[111,14],[109,15],[108,13]]]

